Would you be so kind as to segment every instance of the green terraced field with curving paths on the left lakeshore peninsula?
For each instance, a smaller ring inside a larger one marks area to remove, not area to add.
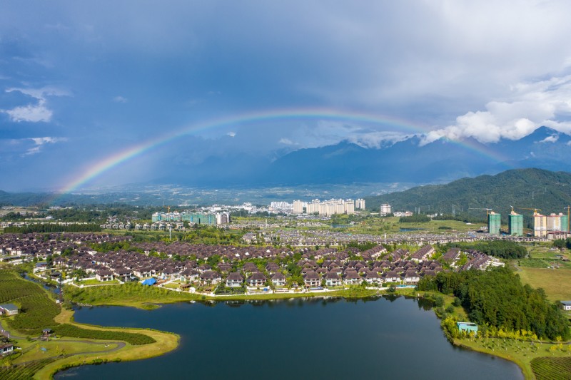
[[[19,307],[19,314],[1,319],[4,329],[16,333],[11,341],[19,349],[0,359],[0,379],[44,379],[62,366],[145,359],[178,346],[176,334],[76,324],[73,311],[6,267],[0,269],[0,299]],[[46,327],[57,335],[47,342],[38,339]]]

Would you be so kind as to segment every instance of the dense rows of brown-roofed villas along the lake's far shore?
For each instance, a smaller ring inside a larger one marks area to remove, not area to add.
[[[150,245],[146,249],[151,249],[151,246],[157,247],[157,245]],[[201,252],[202,255],[213,253],[211,246],[208,246],[210,250],[201,251],[205,247],[193,248],[195,250],[198,248],[198,252]],[[187,260],[172,260],[121,250],[116,252],[78,252],[71,257],[56,258],[54,265],[62,269],[84,269],[86,273],[94,275],[100,281],[111,281],[112,279],[128,281],[134,278],[158,277],[203,285],[218,284],[225,281],[228,287],[244,284],[248,287],[261,287],[270,283],[276,287],[285,286],[291,274],[285,265],[277,264],[280,260],[268,262],[263,270],[258,269],[252,262],[244,262],[244,260],[248,260],[248,258],[278,259],[290,257],[293,252],[274,251],[271,255],[272,250],[268,248],[267,250],[258,250],[258,256],[238,255],[236,257],[235,250],[230,248],[238,249],[237,247],[218,247],[218,250],[215,251],[220,253],[225,252],[224,250],[230,250],[231,252],[225,256],[221,255],[223,262],[216,267],[206,263],[198,265],[196,260],[188,259],[188,255],[186,255]],[[248,250],[248,247],[242,247],[239,250]],[[172,252],[178,252],[176,255],[184,256],[184,252],[180,250],[171,251],[171,255],[173,255]],[[198,252],[190,250],[186,254],[191,253],[197,256]],[[433,247],[423,247],[418,255],[408,255],[408,251],[400,250],[395,251],[397,254],[393,252],[393,255],[387,257],[388,260],[375,260],[385,252],[383,247],[374,247],[361,253],[363,259],[368,257],[368,260],[355,261],[348,259],[351,254],[356,252],[338,252],[330,248],[321,250],[321,252],[304,252],[302,259],[296,265],[303,276],[305,287],[318,287],[321,284],[334,287],[362,282],[368,284],[395,282],[416,284],[421,277],[435,275],[443,270],[439,262],[428,260],[428,257],[432,255],[431,252],[434,252]],[[237,263],[241,266],[237,266]]]

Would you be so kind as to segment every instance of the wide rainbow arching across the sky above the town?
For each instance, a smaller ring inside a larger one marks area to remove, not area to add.
[[[210,130],[213,128],[222,128],[225,126],[241,125],[245,123],[259,123],[261,121],[270,120],[341,120],[353,123],[367,123],[374,125],[388,125],[393,128],[398,128],[405,132],[410,133],[426,133],[429,131],[428,127],[423,125],[418,125],[410,123],[408,120],[403,120],[399,118],[393,118],[386,115],[372,115],[368,113],[354,113],[346,111],[332,110],[329,108],[295,108],[295,109],[277,109],[271,111],[263,111],[256,113],[243,113],[240,115],[233,115],[226,118],[218,118],[214,120],[207,120],[201,123],[195,123],[186,128],[167,133],[165,135],[158,136],[156,138],[151,138],[144,141],[143,143],[138,143],[125,150],[111,155],[103,160],[98,160],[92,163],[87,170],[81,175],[77,176],[70,183],[66,184],[59,191],[60,195],[67,194],[69,192],[74,192],[89,183],[90,180],[97,178],[111,168],[121,165],[121,163],[126,162],[136,158],[139,155],[143,155],[148,150],[152,150],[161,145],[165,145],[176,138],[180,138],[183,135],[191,135],[193,133],[198,133],[203,130]],[[453,141],[453,143],[463,145],[473,152],[484,155],[487,158],[502,162],[505,158],[497,155],[497,153],[487,150],[481,145],[470,145],[470,143]]]

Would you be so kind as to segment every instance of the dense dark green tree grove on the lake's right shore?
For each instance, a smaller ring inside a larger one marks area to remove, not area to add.
[[[436,277],[421,279],[418,289],[454,294],[468,311],[470,320],[484,330],[486,326],[496,331],[526,330],[542,339],[570,337],[567,318],[561,309],[547,302],[542,289],[522,285],[519,277],[504,267],[487,272],[440,272]]]

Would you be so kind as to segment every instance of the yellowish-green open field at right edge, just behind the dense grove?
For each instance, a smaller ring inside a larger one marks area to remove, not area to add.
[[[542,269],[522,267],[517,272],[524,284],[541,287],[551,302],[571,299],[571,269]]]

